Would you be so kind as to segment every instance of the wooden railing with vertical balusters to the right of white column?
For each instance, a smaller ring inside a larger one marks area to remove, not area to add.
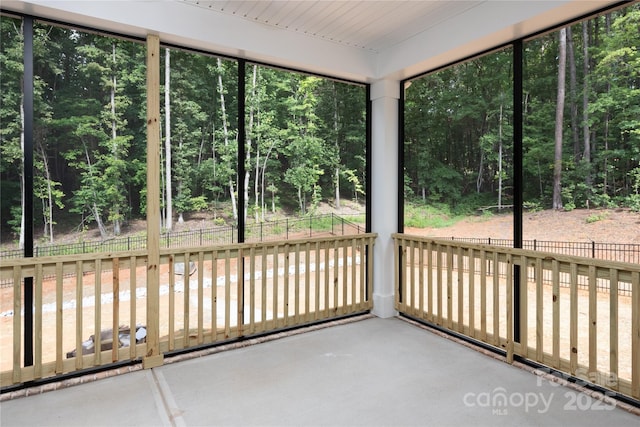
[[[393,238],[399,312],[501,348],[509,362],[518,355],[640,398],[640,265]]]

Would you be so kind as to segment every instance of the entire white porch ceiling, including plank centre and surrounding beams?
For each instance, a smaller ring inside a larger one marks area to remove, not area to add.
[[[637,0],[636,0],[637,1]],[[360,82],[400,80],[617,0],[0,0],[0,7]]]

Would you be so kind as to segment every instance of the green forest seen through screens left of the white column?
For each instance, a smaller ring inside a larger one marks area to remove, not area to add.
[[[2,236],[22,246],[23,28],[2,17]],[[145,45],[44,23],[34,25],[34,212],[38,234],[57,224],[117,236],[146,213]],[[365,192],[366,89],[163,48],[162,227],[208,211],[216,225],[313,213]],[[238,168],[238,117],[245,145]],[[238,192],[245,206],[239,210]]]

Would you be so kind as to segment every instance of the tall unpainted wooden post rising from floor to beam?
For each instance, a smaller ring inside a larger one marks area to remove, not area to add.
[[[145,369],[160,353],[160,37],[147,36],[147,352]]]

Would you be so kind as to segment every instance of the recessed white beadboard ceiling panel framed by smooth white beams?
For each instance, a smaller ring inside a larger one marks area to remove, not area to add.
[[[464,13],[486,0],[182,0],[344,46],[380,53]]]

